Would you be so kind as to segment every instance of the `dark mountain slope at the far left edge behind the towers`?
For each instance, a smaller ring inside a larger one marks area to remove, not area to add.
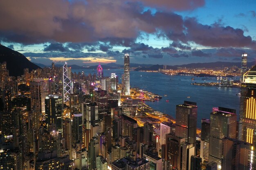
[[[23,75],[24,68],[29,68],[29,71],[40,68],[40,66],[30,62],[21,53],[0,44],[0,63],[2,62],[7,63],[7,70],[9,70],[10,76]]]

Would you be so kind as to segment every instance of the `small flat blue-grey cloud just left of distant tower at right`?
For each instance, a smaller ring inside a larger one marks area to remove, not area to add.
[[[220,48],[217,49],[215,55],[220,57],[237,57],[245,53],[243,49],[234,49],[234,48]]]

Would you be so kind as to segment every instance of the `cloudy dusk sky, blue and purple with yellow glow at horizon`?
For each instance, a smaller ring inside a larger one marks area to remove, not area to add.
[[[2,0],[0,42],[32,62],[256,60],[255,0]]]

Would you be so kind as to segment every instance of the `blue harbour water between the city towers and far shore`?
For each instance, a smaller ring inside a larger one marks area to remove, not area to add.
[[[96,73],[96,69],[72,71],[76,71],[76,73],[84,71],[85,75]],[[121,75],[124,70],[103,70],[104,77],[110,76],[111,73],[116,73],[119,83],[121,83]],[[191,78],[195,80],[191,80]],[[235,79],[238,80],[239,77]],[[184,100],[196,102],[198,105],[198,128],[201,126],[202,118],[210,118],[213,107],[233,108],[236,109],[238,115],[240,96],[236,94],[240,92],[240,88],[195,86],[191,85],[193,82],[217,82],[217,79],[213,77],[213,79],[202,80],[202,77],[195,76],[170,76],[162,73],[130,71],[131,87],[138,87],[163,96],[159,101],[146,102],[155,110],[175,118],[177,104],[183,104]],[[167,96],[164,97],[164,95]]]

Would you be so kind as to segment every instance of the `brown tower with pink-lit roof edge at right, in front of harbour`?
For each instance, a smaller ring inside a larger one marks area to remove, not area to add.
[[[236,138],[236,110],[219,107],[210,117],[209,161],[216,162],[220,170],[222,138]]]

